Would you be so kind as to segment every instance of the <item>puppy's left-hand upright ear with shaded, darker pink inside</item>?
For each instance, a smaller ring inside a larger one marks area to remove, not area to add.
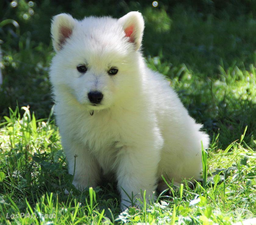
[[[51,33],[55,51],[62,49],[67,38],[72,35],[76,20],[66,13],[54,16],[52,19]]]

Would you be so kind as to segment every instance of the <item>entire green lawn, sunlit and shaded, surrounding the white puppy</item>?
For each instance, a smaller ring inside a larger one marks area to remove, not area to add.
[[[256,217],[254,1],[13,4],[0,0],[0,223],[231,224]],[[114,181],[64,194],[73,176],[52,115],[49,27],[60,12],[81,19],[137,10],[148,66],[170,81],[211,145],[202,151],[203,182],[194,189],[170,183],[157,202],[121,212]]]

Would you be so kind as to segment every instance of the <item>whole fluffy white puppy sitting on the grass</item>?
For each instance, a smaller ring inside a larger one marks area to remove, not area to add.
[[[130,206],[126,192],[151,198],[161,175],[198,179],[201,140],[209,143],[163,75],[147,67],[143,30],[139,12],[81,21],[59,14],[51,28],[50,80],[70,174],[78,155],[73,184],[95,187],[114,174],[122,207]]]

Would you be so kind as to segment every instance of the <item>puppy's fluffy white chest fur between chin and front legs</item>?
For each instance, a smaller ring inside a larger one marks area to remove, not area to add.
[[[116,116],[97,114],[93,116],[79,114],[73,117],[59,117],[65,121],[63,133],[69,133],[71,139],[78,139],[83,143],[86,151],[90,151],[99,162],[103,173],[108,173],[116,168],[117,157],[123,146],[127,145],[124,131],[124,119],[121,121]],[[125,123],[127,124],[127,123]],[[60,123],[63,125],[63,123]]]

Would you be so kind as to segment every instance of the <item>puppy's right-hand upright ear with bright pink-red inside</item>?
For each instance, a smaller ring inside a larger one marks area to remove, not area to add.
[[[121,17],[118,22],[123,27],[126,37],[129,37],[129,41],[134,43],[135,50],[138,50],[141,45],[144,19],[140,12],[129,12],[125,16]]]

